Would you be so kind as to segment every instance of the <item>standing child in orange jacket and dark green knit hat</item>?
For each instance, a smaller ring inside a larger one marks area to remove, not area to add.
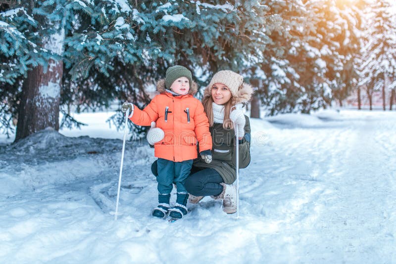
[[[194,98],[197,85],[191,72],[183,66],[173,66],[166,70],[165,80],[157,83],[156,95],[145,109],[140,110],[125,102],[122,111],[129,109],[129,119],[139,126],[150,126],[156,122],[157,138],[149,138],[154,144],[154,156],[158,158],[158,203],[152,210],[154,217],[182,218],[187,214],[188,192],[184,187],[190,175],[193,159],[197,158],[197,141],[202,159],[211,162],[212,138],[209,122],[201,102]],[[169,199],[172,183],[176,183],[176,205],[170,208]]]

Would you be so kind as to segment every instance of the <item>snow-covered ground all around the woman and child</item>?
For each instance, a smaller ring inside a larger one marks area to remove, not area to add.
[[[123,215],[109,214],[122,148],[110,114],[0,137],[0,263],[396,263],[395,112],[252,119],[240,218],[205,197],[174,223],[150,216],[147,142],[128,142]]]

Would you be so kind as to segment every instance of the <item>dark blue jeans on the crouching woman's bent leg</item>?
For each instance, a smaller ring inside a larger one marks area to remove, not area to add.
[[[221,182],[224,180],[216,170],[206,168],[198,172],[192,171],[184,186],[190,194],[195,196],[217,196],[223,191]]]

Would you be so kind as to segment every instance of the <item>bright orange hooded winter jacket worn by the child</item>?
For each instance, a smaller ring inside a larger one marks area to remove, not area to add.
[[[155,121],[156,127],[164,131],[164,138],[154,144],[154,156],[175,162],[195,159],[198,156],[197,139],[199,152],[212,149],[203,105],[192,95],[195,89],[190,89],[186,95],[173,96],[165,91],[164,82],[160,81],[157,90],[161,94],[156,95],[143,110],[135,106],[130,118],[139,126],[150,126]]]

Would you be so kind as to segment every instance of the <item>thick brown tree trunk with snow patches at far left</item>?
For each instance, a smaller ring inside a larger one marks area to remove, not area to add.
[[[57,54],[63,51],[64,31],[43,39],[44,48]],[[46,128],[59,130],[60,88],[63,61],[49,59],[49,68],[30,70],[23,82],[15,141]]]

